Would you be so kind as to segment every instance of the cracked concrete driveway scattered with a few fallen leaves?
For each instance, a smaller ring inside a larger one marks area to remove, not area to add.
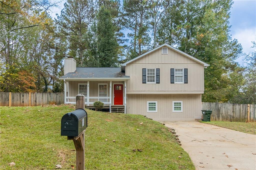
[[[256,169],[256,135],[197,121],[164,123],[176,130],[196,169]]]

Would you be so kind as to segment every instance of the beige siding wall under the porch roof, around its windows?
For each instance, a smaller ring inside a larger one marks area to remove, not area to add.
[[[77,96],[78,94],[78,84],[79,83],[86,83],[87,84],[87,81],[69,81],[69,95],[67,96],[72,96],[72,97],[75,97]],[[110,91],[110,81],[90,81],[89,82],[89,96],[90,97],[98,97],[98,84],[99,83],[106,83],[108,84],[108,97],[110,96],[109,94],[109,91]],[[112,81],[112,92],[111,92],[111,103],[113,105],[113,84],[124,84],[124,81]],[[75,99],[70,99],[69,100],[70,102],[74,102]],[[98,101],[98,99],[90,99],[90,102],[94,102],[94,101]],[[109,100],[108,100],[109,102]]]

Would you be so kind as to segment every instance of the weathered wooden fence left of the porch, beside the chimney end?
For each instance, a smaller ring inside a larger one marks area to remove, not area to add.
[[[40,106],[64,104],[64,92],[11,93],[0,92],[0,106]]]

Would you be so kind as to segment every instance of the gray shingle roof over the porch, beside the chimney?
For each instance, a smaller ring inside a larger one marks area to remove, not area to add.
[[[77,67],[73,73],[60,78],[129,78],[120,67]]]

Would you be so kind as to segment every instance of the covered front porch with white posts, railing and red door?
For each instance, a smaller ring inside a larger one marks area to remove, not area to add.
[[[64,80],[65,104],[76,104],[76,96],[85,96],[87,108],[94,108],[95,101],[101,101],[109,112],[126,113],[126,80],[128,78],[84,78]]]

